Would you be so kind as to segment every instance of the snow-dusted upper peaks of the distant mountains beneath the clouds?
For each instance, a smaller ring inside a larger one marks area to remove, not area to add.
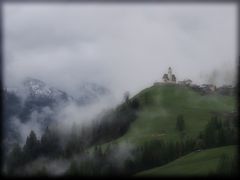
[[[39,79],[27,78],[20,87],[4,88],[5,93],[14,94],[23,99],[49,99],[53,101],[74,101],[78,105],[87,105],[94,103],[103,96],[110,93],[109,89],[96,83],[83,82],[77,87],[78,94],[74,97],[55,87],[48,86]]]

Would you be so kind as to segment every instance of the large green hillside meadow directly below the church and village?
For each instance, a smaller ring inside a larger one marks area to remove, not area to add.
[[[217,94],[200,95],[188,87],[158,85],[137,94],[140,102],[138,118],[130,125],[127,133],[113,142],[128,141],[141,144],[152,138],[178,140],[176,119],[183,114],[186,136],[195,137],[210,120],[212,112],[236,110],[236,98]]]

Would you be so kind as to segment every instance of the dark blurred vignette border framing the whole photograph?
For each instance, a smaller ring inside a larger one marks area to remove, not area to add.
[[[236,65],[237,65],[237,117],[238,117],[238,129],[240,131],[240,120],[239,120],[239,108],[240,108],[240,103],[239,103],[239,97],[240,97],[240,90],[239,90],[239,83],[240,83],[240,54],[239,54],[239,47],[240,47],[240,36],[239,36],[239,29],[240,29],[240,3],[238,0],[0,0],[0,116],[1,116],[1,122],[0,122],[0,143],[1,143],[1,149],[0,149],[0,154],[3,152],[3,147],[2,147],[2,140],[3,140],[3,111],[4,111],[4,104],[3,104],[3,81],[4,81],[4,74],[3,74],[3,65],[4,65],[4,27],[3,27],[3,22],[4,22],[4,17],[3,17],[3,6],[4,4],[10,4],[10,3],[16,3],[16,4],[21,4],[21,3],[49,3],[49,4],[59,4],[59,3],[94,3],[94,4],[104,4],[104,3],[111,3],[111,4],[122,4],[122,3],[131,3],[131,4],[137,4],[137,3],[178,3],[178,4],[183,4],[183,3],[196,3],[196,4],[207,4],[207,3],[224,3],[224,4],[229,4],[229,3],[235,3],[237,5],[237,59],[236,59]],[[238,142],[240,140],[240,132],[238,131]],[[238,168],[240,170],[240,148],[238,144]],[[2,155],[0,156],[0,175],[4,177],[4,174],[2,172],[2,166],[3,166],[3,158]],[[238,172],[239,175],[239,172]],[[6,177],[6,176],[5,176]],[[66,176],[63,176],[66,177]],[[177,176],[174,176],[177,177]],[[214,176],[216,177],[216,176]],[[219,176],[220,177],[220,176]],[[45,177],[46,178],[46,177]],[[159,177],[159,178],[173,178],[173,177]],[[190,176],[185,176],[185,177],[178,177],[178,178],[191,178]],[[197,177],[194,177],[197,178]],[[222,177],[220,177],[222,178]]]

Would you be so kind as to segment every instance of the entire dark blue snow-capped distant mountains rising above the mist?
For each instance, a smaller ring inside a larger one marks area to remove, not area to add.
[[[107,88],[89,82],[82,83],[77,91],[79,94],[73,97],[34,78],[25,79],[19,87],[4,88],[4,129],[7,136],[17,137],[19,123],[34,121],[42,129],[46,128],[56,118],[59,108],[68,103],[87,106],[111,94]]]

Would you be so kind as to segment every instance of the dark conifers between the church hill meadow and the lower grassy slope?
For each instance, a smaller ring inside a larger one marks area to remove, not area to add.
[[[103,151],[100,146],[96,146],[92,158],[79,163],[72,162],[67,174],[82,176],[133,175],[146,169],[164,165],[193,151],[236,145],[238,142],[237,128],[234,125],[236,121],[236,118],[220,120],[218,116],[213,116],[205,129],[195,139],[185,138],[175,143],[159,139],[148,141],[131,150],[133,157],[124,160],[124,165],[121,167],[119,167],[118,162],[109,161],[114,148],[117,147],[110,144]],[[228,164],[224,164],[221,160],[217,171],[212,172],[212,174],[237,173],[237,158],[228,160],[225,157],[224,162],[228,162]],[[228,165],[229,167],[225,168]],[[221,171],[220,169],[223,168],[225,170]]]

